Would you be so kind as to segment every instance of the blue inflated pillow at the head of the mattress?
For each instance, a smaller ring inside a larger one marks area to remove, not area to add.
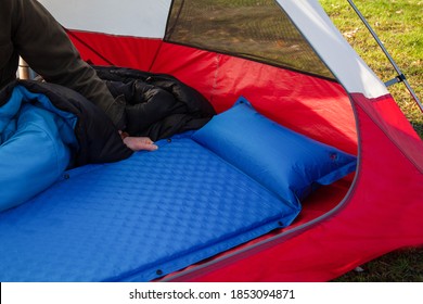
[[[293,205],[357,165],[356,156],[270,121],[244,99],[192,137]]]

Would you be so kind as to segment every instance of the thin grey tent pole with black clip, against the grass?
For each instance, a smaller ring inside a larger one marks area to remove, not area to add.
[[[390,79],[389,81],[385,83],[386,87],[389,87],[392,85],[398,84],[398,83],[403,83],[405,86],[407,87],[408,91],[410,92],[411,97],[414,99],[414,101],[418,103],[420,111],[423,112],[423,104],[416,97],[415,92],[411,88],[410,84],[407,81],[406,76],[402,74],[401,69],[398,67],[398,65],[395,63],[394,59],[390,56],[388,51],[386,50],[385,46],[382,43],[381,39],[379,39],[376,33],[373,30],[373,28],[370,26],[366,17],[361,14],[359,9],[356,7],[356,4],[352,2],[352,0],[347,0],[348,3],[351,5],[354,11],[357,13],[357,15],[360,17],[362,23],[366,25],[366,27],[369,29],[370,34],[372,34],[374,40],[376,40],[377,45],[382,49],[382,51],[385,53],[386,58],[389,60],[390,64],[394,66],[395,71],[397,72],[398,76],[395,77],[394,79]]]

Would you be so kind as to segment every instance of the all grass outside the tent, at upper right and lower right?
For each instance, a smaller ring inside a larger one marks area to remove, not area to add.
[[[341,33],[376,75],[387,81],[397,74],[359,17],[344,0],[320,0]],[[355,4],[373,27],[385,48],[406,75],[418,98],[423,98],[423,1],[355,0]],[[388,88],[398,105],[423,137],[423,115],[402,84]],[[350,271],[335,281],[423,282],[423,248],[386,254]]]

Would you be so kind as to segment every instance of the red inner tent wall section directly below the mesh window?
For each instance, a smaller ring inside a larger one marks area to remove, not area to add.
[[[164,43],[153,72],[200,90],[217,112],[240,96],[269,118],[319,141],[357,153],[350,101],[336,83],[257,62]]]

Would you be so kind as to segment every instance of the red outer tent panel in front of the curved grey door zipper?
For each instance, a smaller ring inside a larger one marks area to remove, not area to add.
[[[422,172],[390,140],[393,127],[381,128],[360,104],[357,116],[360,167],[342,208],[302,233],[177,280],[326,281],[389,251],[423,245]]]

